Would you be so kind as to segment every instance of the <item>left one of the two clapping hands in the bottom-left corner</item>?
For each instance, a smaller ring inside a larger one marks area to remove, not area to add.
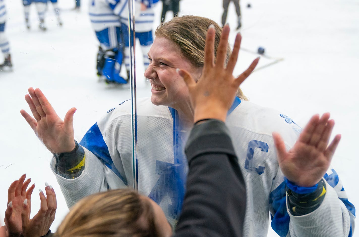
[[[23,232],[22,229],[22,209],[24,203],[27,202],[27,196],[30,195],[35,188],[32,185],[28,191],[26,191],[31,179],[25,181],[26,175],[22,175],[19,180],[15,180],[11,183],[8,189],[8,208],[5,210],[5,225],[8,234],[19,235]],[[25,181],[25,182],[24,182]]]

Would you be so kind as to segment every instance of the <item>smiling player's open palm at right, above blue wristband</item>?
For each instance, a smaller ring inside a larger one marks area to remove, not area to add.
[[[334,127],[334,120],[329,120],[329,117],[329,113],[321,118],[318,114],[314,115],[288,152],[281,136],[273,133],[279,166],[284,176],[298,186],[317,184],[330,165],[340,135],[336,135],[328,146]]]

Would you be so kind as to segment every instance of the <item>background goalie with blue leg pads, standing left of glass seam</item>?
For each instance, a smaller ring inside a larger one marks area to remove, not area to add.
[[[123,61],[123,40],[119,15],[127,9],[127,1],[89,1],[90,20],[100,42],[97,54],[97,75],[108,83],[126,84],[120,75]]]

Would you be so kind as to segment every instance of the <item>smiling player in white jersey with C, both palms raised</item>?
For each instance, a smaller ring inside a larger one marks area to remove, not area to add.
[[[182,16],[160,25],[145,72],[152,95],[137,100],[137,129],[143,134],[136,140],[139,190],[159,203],[172,222],[183,201],[186,163],[182,144],[194,120],[188,89],[177,68],[201,82],[198,79],[206,71],[204,62],[214,61],[204,57],[205,35],[212,24],[216,51],[222,28],[208,18]],[[228,33],[229,27],[223,30]],[[223,50],[223,46],[220,48]],[[216,65],[221,67],[229,57],[238,56],[230,55],[228,49],[227,58],[216,58]],[[73,131],[75,108],[62,121],[39,89],[30,88],[25,99],[34,118],[24,110],[21,113],[54,153],[51,167],[69,207],[83,196],[133,185],[130,102],[109,110],[77,144]],[[266,236],[269,212],[271,226],[281,237],[351,236],[355,208],[338,174],[328,169],[340,138],[335,136],[327,147],[334,126],[329,117],[328,113],[321,118],[316,115],[312,121],[321,124],[314,131],[325,134],[325,142],[316,144],[304,138],[320,152],[295,159],[291,151],[301,145],[296,141],[302,129],[288,116],[247,101],[238,90],[226,123],[247,187],[244,236]]]

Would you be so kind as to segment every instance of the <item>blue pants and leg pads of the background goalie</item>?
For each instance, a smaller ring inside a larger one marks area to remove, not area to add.
[[[97,54],[97,74],[103,75],[108,81],[125,84],[127,81],[120,76],[123,61],[123,44],[120,27],[109,27],[96,32],[100,42]]]

